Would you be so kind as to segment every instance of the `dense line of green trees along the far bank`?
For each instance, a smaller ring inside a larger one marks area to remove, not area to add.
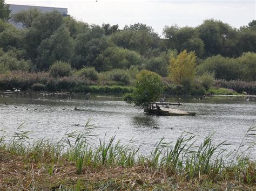
[[[38,9],[10,14],[0,1],[0,71],[48,71],[57,61],[72,69],[94,67],[97,72],[137,67],[166,77],[170,61],[184,50],[196,56],[197,75],[255,81],[256,20],[235,29],[207,19],[197,27],[166,26],[163,37],[151,26],[137,23],[89,25],[57,11]],[[21,23],[17,29],[8,20]],[[170,56],[172,58],[170,59]]]

